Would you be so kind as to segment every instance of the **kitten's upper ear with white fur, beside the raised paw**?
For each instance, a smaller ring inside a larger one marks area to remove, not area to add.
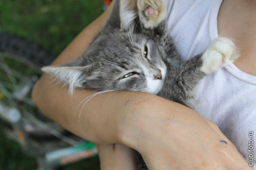
[[[116,0],[110,18],[105,26],[106,30],[127,30],[137,17],[134,0]]]

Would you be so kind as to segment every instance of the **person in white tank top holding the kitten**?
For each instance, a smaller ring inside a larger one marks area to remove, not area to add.
[[[85,28],[53,65],[79,57],[106,23],[111,7]],[[90,99],[83,109],[82,106],[78,108],[83,99],[95,93],[94,90],[76,89],[70,96],[68,87],[55,85],[54,78],[47,74],[35,85],[32,97],[46,116],[76,135],[98,143],[102,170],[137,169],[131,148],[141,153],[150,170],[249,170],[250,166],[236,147],[246,157],[247,139],[244,136],[248,136],[249,130],[256,131],[253,125],[255,105],[252,105],[256,95],[246,95],[256,91],[256,58],[253,57],[256,39],[252,36],[256,33],[253,29],[256,19],[249,17],[255,14],[255,8],[253,1],[242,0],[168,2],[169,28],[183,59],[204,51],[218,35],[239,42],[237,46],[242,57],[235,65],[221,68],[198,85],[198,112],[203,116],[183,105],[138,91],[102,94]],[[234,77],[236,80],[232,79]],[[224,96],[231,97],[219,101],[218,96],[225,91],[228,93]],[[239,95],[233,95],[234,92]],[[141,102],[142,99],[150,102]],[[138,102],[141,104],[135,105]],[[222,105],[225,102],[229,107]],[[81,125],[77,123],[80,111]],[[229,139],[237,142],[236,147],[209,119],[214,120]]]

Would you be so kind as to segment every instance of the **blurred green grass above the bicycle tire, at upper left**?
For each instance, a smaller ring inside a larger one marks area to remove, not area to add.
[[[0,32],[59,54],[103,10],[102,0],[0,0]]]

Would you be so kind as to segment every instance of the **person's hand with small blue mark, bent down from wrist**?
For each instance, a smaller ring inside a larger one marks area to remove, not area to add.
[[[134,111],[123,117],[123,143],[150,170],[252,170],[217,125],[183,105],[141,96],[125,107]]]

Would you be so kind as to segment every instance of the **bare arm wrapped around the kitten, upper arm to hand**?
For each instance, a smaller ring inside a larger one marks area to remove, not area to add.
[[[82,31],[54,64],[60,64],[81,55],[104,25],[108,14],[110,14],[109,11]],[[213,138],[212,145],[208,146],[210,149],[207,148],[208,151],[215,147],[215,144],[218,145],[220,132],[212,128],[205,118],[189,108],[142,92],[110,92],[90,99],[89,96],[96,92],[87,89],[76,90],[73,96],[70,96],[67,87],[61,88],[61,85],[55,84],[54,78],[45,74],[33,91],[35,103],[47,116],[84,139],[101,144],[126,144],[140,151],[152,169],[159,169],[160,166],[165,166],[161,169],[178,165],[186,167],[188,162],[198,163],[195,158],[200,155],[204,155],[203,160],[206,162],[213,161],[217,164],[220,161],[215,161],[219,159],[220,150],[205,155],[206,149],[201,148],[209,143],[209,139],[202,139],[201,135],[208,134]],[[90,99],[88,102],[87,97]],[[180,136],[180,134],[183,135]],[[178,164],[177,162],[180,161],[175,160],[182,160],[183,154],[186,155],[188,151],[186,137],[193,139],[190,139],[189,144],[192,143],[194,152],[186,158],[186,164]],[[229,142],[227,139],[224,140]],[[148,143],[149,141],[151,142]],[[170,142],[173,145],[170,145]],[[190,158],[193,153],[196,153],[196,156]],[[234,151],[229,147],[227,155],[233,153]],[[169,161],[170,158],[173,158],[173,162]],[[167,163],[161,165],[161,161]],[[224,163],[222,162],[222,165],[225,165]],[[198,166],[203,165],[199,162]]]

